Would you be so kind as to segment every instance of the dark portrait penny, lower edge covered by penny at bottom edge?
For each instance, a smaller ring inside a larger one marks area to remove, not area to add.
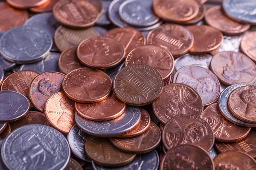
[[[214,133],[204,119],[180,115],[164,126],[162,140],[167,150],[182,144],[195,144],[209,151],[214,144]]]

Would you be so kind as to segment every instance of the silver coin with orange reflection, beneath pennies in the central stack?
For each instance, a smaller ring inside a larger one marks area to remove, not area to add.
[[[84,119],[76,113],[76,124],[86,133],[101,137],[115,137],[133,129],[140,122],[140,109],[127,105],[116,119],[96,122]]]

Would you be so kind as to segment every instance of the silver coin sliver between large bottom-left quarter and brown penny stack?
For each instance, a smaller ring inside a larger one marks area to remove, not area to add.
[[[67,134],[67,141],[70,144],[72,153],[83,161],[90,162],[90,158],[85,153],[85,142],[90,135],[74,125]]]

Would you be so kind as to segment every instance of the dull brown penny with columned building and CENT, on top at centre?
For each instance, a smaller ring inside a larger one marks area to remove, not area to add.
[[[116,74],[113,89],[122,102],[135,106],[148,105],[161,95],[163,78],[148,65],[129,65]]]

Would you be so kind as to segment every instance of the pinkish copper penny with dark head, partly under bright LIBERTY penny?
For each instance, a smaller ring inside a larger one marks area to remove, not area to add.
[[[29,98],[35,108],[44,110],[47,99],[62,90],[61,85],[65,75],[58,72],[39,74],[29,87]]]

